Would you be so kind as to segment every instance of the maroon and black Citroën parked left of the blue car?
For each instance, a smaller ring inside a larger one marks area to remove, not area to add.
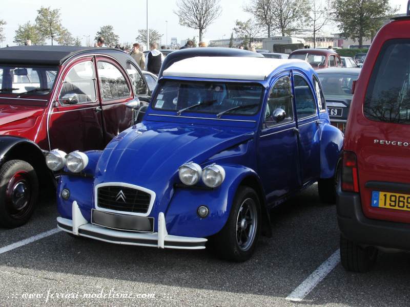
[[[45,152],[104,148],[133,123],[126,104],[151,95],[135,61],[117,49],[3,48],[0,76],[2,227],[26,223],[39,191],[54,186]]]

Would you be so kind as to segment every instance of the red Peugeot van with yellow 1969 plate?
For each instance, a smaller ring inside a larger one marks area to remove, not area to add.
[[[377,33],[354,86],[337,186],[348,271],[370,270],[378,250],[410,251],[409,6]]]

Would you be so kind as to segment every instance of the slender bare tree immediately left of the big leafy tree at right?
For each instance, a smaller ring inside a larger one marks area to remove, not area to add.
[[[316,33],[322,29],[322,27],[327,26],[331,22],[331,11],[332,0],[310,0],[309,1],[309,11],[310,14],[306,18],[312,29],[313,34],[313,48],[316,48]]]

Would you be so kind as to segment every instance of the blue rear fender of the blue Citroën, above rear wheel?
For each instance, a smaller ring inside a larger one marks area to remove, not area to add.
[[[343,133],[330,124],[323,125],[320,135],[320,178],[332,178],[343,147]]]

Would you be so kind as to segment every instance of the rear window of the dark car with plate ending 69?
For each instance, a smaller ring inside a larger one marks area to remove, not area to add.
[[[320,74],[319,79],[322,83],[324,96],[326,95],[348,95],[353,96],[353,81],[357,80],[359,75],[347,74]]]

